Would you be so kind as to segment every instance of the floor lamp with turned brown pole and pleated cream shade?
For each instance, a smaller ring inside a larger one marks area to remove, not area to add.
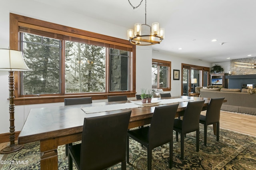
[[[3,148],[0,153],[12,153],[23,148],[23,145],[15,144],[14,126],[14,71],[28,71],[21,51],[12,49],[0,49],[0,71],[9,71],[9,113],[10,113],[10,146]]]

